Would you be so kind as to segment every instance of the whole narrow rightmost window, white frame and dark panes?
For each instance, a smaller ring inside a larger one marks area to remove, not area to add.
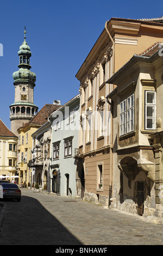
[[[145,93],[145,129],[155,129],[155,92]]]

